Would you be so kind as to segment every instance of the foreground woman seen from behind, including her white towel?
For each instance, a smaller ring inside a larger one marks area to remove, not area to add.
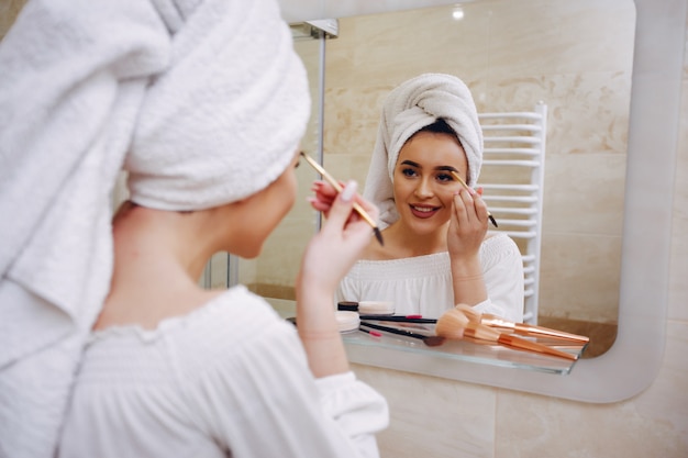
[[[306,252],[298,332],[244,287],[198,287],[215,252],[256,256],[295,200],[310,100],[277,2],[31,0],[0,62],[16,224],[0,455],[377,456],[387,404],[349,371],[331,306],[370,238],[353,202],[377,214],[355,186]]]

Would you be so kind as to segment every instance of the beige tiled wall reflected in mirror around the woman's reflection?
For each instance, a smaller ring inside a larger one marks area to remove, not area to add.
[[[540,315],[615,323],[635,9],[631,1],[480,1],[340,20],[328,42],[325,166],[362,183],[381,102],[454,74],[478,110],[548,107]]]

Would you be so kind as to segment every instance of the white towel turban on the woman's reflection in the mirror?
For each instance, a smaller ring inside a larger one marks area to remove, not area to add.
[[[393,174],[399,152],[418,131],[443,119],[456,132],[475,186],[482,164],[482,130],[473,96],[457,77],[423,74],[395,88],[385,99],[364,197],[380,210],[380,228],[399,219],[393,200]]]

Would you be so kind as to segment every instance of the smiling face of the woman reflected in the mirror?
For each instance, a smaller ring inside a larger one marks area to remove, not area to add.
[[[466,179],[466,153],[451,134],[419,132],[399,152],[395,203],[400,221],[413,232],[428,234],[450,221],[454,194],[460,189],[451,170]]]

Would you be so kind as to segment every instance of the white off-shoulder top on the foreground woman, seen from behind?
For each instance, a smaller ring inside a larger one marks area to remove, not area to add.
[[[155,331],[96,333],[59,457],[377,457],[385,399],[314,379],[291,323],[235,287]]]

